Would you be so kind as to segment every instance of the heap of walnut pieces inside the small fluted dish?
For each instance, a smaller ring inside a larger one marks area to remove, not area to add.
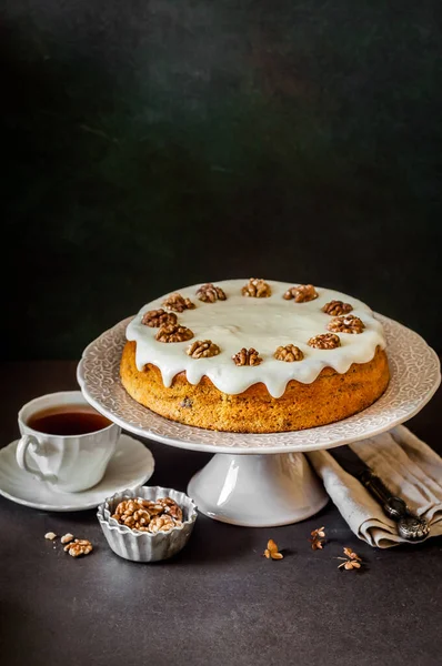
[[[134,497],[120,502],[112,518],[140,532],[169,531],[182,525],[182,509],[171,497],[159,497],[154,502]]]

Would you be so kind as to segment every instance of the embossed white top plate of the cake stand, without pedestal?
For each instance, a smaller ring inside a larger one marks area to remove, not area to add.
[[[77,379],[86,400],[99,412],[141,437],[193,451],[230,454],[290,453],[331,448],[372,437],[414,416],[441,382],[435,352],[414,331],[376,314],[384,326],[391,380],[370,407],[336,423],[304,431],[243,434],[183,425],[143,407],[120,381],[120,359],[129,317],[106,331],[83,352]]]

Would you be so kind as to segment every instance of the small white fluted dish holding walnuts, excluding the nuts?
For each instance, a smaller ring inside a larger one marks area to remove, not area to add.
[[[120,502],[131,497],[153,501],[171,497],[182,508],[182,526],[173,527],[169,532],[160,531],[151,534],[121,525],[111,516]],[[158,562],[177,555],[188,543],[197,515],[197,507],[188,495],[160,486],[139,486],[132,491],[121,491],[104,500],[97,511],[101,529],[111,549],[120,557],[132,562]]]

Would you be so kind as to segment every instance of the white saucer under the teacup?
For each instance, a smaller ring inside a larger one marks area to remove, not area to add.
[[[119,491],[142,485],[153,474],[154,461],[138,440],[121,435],[103,478],[81,493],[61,493],[49,483],[33,478],[16,462],[17,440],[0,451],[0,495],[43,511],[86,511]]]

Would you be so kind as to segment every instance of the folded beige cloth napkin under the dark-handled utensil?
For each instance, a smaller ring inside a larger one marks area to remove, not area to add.
[[[442,458],[409,428],[399,425],[373,438],[354,442],[356,453],[409,508],[430,523],[430,538],[442,534]],[[364,486],[343,471],[327,451],[308,457],[352,532],[371,546],[404,543],[396,524]]]

